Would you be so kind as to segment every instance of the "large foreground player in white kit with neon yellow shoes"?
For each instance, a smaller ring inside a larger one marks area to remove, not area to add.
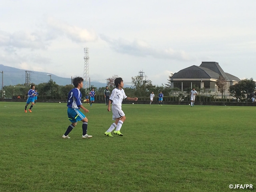
[[[122,127],[122,124],[124,123],[126,117],[124,112],[122,111],[122,101],[124,99],[128,100],[134,100],[137,101],[138,98],[132,98],[127,97],[124,90],[122,89],[124,87],[123,79],[118,77],[115,79],[115,86],[114,90],[112,90],[111,96],[108,101],[108,111],[110,111],[110,104],[112,102],[112,119],[116,120],[110,128],[104,133],[106,136],[113,137],[111,135],[111,132],[116,128],[114,131],[114,134],[117,134],[119,136],[123,136],[123,134],[120,132],[120,129]]]

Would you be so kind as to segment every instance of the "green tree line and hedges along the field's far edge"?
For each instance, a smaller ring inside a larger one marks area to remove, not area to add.
[[[108,87],[110,91],[115,88],[114,79],[118,77],[117,75],[112,76],[108,79]],[[140,76],[132,77],[132,86],[128,88],[124,88],[126,95],[131,97],[138,97],[139,100],[149,100],[149,95],[153,91],[155,94],[154,100],[157,100],[158,94],[161,91],[164,94],[164,101],[181,101],[181,100],[190,100],[190,88],[183,90],[183,92],[179,88],[170,88],[170,77],[167,84],[162,84],[160,86],[155,86],[152,84],[151,80],[146,78],[142,78]],[[218,81],[216,82],[218,86],[218,91],[222,93],[222,99],[226,99],[223,96],[223,93],[226,90],[226,82],[223,77],[220,76]],[[65,85],[61,86],[56,84],[53,80],[49,80],[46,83],[35,84],[36,90],[39,93],[38,100],[67,100],[69,91],[74,88],[73,85]],[[194,85],[193,85],[194,86]],[[255,96],[255,86],[256,83],[251,79],[244,79],[234,84],[228,88],[230,92],[230,96],[234,98],[240,98],[240,100],[248,100]],[[205,88],[196,87],[196,91],[198,92],[197,100],[198,101],[220,101],[217,98],[215,93],[211,93],[207,91]],[[104,101],[104,89],[106,87],[96,88],[93,85],[90,89],[82,88],[80,91],[82,96],[85,98],[86,94],[89,94],[90,90],[94,88],[96,92],[95,100]],[[16,86],[4,86],[5,90],[5,98],[20,98],[25,99],[27,97],[28,90],[30,88],[26,87],[25,84],[17,84]],[[83,98],[83,99],[84,99]],[[230,100],[232,101],[232,100]]]

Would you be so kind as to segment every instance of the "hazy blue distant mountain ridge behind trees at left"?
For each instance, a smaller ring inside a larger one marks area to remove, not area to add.
[[[0,71],[4,71],[4,86],[17,85],[26,83],[26,70],[18,69],[14,67],[8,67],[0,64]],[[28,71],[28,70],[27,70]],[[50,80],[50,73],[32,71],[30,73],[30,83],[40,84],[48,82]],[[53,81],[58,85],[68,85],[71,84],[71,78],[59,77],[54,74],[50,74]],[[2,74],[0,74],[0,81],[2,83]],[[104,87],[106,83],[101,83],[98,81],[90,82],[94,87]]]

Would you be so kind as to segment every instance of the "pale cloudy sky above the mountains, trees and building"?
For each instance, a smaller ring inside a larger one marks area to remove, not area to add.
[[[0,64],[154,85],[202,61],[256,79],[255,0],[0,0]]]

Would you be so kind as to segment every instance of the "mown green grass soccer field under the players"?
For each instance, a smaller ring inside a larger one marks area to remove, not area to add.
[[[0,102],[0,192],[226,192],[256,188],[254,107],[122,106],[123,137],[104,136],[112,112],[93,104],[82,123],[64,103]],[[252,189],[254,191],[254,189]]]

